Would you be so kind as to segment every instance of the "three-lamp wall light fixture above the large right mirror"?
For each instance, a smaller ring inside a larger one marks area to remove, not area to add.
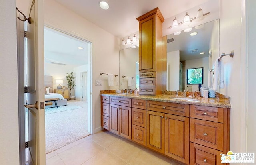
[[[203,14],[203,10],[199,7],[199,10],[197,11],[196,17],[190,18],[189,15],[188,15],[188,12],[186,12],[186,15],[184,17],[183,22],[178,23],[178,21],[175,17],[173,22],[172,22],[172,26],[170,26],[169,28],[177,28],[180,24],[183,24],[184,26],[189,26],[191,24],[192,20],[195,20],[195,21],[203,20],[204,16],[206,16],[207,14],[210,14],[210,12],[207,12],[207,13]],[[190,28],[188,28],[188,29],[190,29]],[[184,31],[189,32],[188,29],[185,29]],[[177,33],[176,35],[178,35],[178,33],[180,34],[180,31],[178,31],[176,33]]]

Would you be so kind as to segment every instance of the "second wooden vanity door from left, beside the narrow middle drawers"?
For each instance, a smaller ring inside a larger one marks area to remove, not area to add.
[[[119,116],[119,134],[127,139],[132,139],[132,108],[120,106],[118,109]]]

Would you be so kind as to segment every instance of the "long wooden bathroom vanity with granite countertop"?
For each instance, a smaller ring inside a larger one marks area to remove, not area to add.
[[[221,164],[230,98],[102,93],[102,127],[184,164]]]

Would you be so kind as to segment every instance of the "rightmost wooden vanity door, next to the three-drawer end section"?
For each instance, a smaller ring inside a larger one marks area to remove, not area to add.
[[[189,118],[165,114],[165,155],[189,163]]]

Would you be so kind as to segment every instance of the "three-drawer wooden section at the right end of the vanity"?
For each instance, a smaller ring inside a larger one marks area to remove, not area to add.
[[[190,164],[221,164],[220,153],[229,151],[230,110],[190,106]]]

